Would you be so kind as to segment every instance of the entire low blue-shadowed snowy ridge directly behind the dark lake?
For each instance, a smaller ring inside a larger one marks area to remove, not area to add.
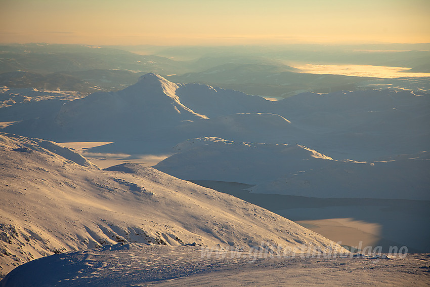
[[[333,160],[302,145],[204,137],[174,148],[155,168],[187,180],[257,184],[255,193],[430,200],[428,152],[387,161]]]

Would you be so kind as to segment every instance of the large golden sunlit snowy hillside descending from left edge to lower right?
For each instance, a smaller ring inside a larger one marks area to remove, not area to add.
[[[263,208],[152,168],[99,170],[54,142],[5,133],[0,158],[3,276],[32,259],[118,242],[345,252]]]

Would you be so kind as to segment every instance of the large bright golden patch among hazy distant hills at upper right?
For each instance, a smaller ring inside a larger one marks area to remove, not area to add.
[[[430,73],[410,73],[405,67],[386,67],[373,65],[314,65],[294,66],[304,73],[336,74],[360,77],[396,78],[396,77],[427,77]]]

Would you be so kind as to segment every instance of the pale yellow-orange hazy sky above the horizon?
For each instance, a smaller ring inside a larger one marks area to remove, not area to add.
[[[430,0],[0,0],[0,42],[430,43]]]

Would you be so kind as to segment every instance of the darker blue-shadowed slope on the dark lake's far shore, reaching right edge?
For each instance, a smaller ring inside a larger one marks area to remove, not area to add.
[[[310,166],[248,190],[323,198],[430,200],[430,160],[412,157],[384,162],[333,160],[324,167]]]

